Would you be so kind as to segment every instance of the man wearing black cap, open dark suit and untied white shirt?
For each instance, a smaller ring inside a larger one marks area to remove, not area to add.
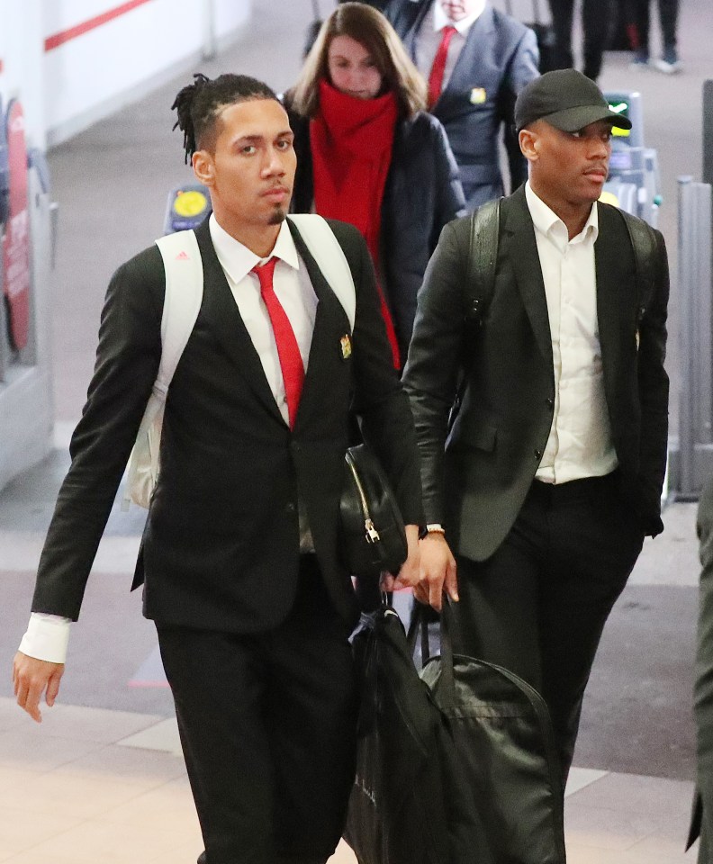
[[[611,128],[630,122],[597,85],[549,72],[515,118],[529,180],[501,201],[492,285],[468,282],[464,219],[419,295],[403,380],[432,587],[416,593],[438,605],[438,581],[452,596],[457,578],[463,652],[543,694],[566,779],[602,628],[645,535],[663,530],[668,266],[658,231],[598,202]],[[481,292],[477,329],[464,284]]]

